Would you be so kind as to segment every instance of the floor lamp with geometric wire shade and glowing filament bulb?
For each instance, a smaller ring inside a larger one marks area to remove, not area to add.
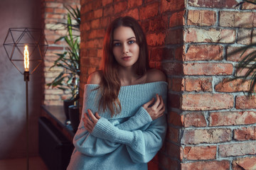
[[[26,81],[26,165],[29,169],[29,121],[28,121],[28,81],[30,74],[43,62],[48,43],[40,28],[9,28],[4,40],[4,49],[14,67]]]

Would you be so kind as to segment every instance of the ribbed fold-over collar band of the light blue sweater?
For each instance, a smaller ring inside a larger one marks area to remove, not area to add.
[[[155,97],[156,94],[162,94],[163,98],[166,99],[166,94],[164,94],[164,91],[166,92],[166,86],[167,83],[164,81],[157,81],[148,84],[136,84],[132,86],[121,86],[118,98],[122,106],[122,114],[115,115],[111,118],[110,111],[107,110],[105,113],[100,112],[100,116],[107,118],[108,120],[130,117],[147,102],[145,102],[145,99],[149,101],[151,98]],[[101,95],[100,90],[94,90],[97,89],[97,87],[99,87],[97,84],[85,85],[84,100],[86,100],[86,102],[84,103],[85,107],[82,109],[83,113],[87,112],[87,106],[90,106],[89,108],[92,113],[99,110],[98,101],[100,100]]]

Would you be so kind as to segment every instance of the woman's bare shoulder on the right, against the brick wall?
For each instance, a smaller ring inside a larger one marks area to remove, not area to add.
[[[149,69],[149,71],[146,72],[146,83],[155,81],[166,81],[166,75],[159,69]]]

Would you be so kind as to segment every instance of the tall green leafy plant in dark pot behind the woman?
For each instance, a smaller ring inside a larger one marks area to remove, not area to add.
[[[73,106],[75,111],[78,111],[78,98],[79,98],[79,82],[80,82],[80,35],[74,35],[73,30],[79,31],[80,27],[80,9],[78,7],[68,9],[67,23],[61,23],[67,30],[67,35],[62,36],[55,40],[65,40],[68,47],[65,52],[58,53],[58,59],[54,61],[53,66],[50,67],[62,67],[63,71],[58,74],[52,82],[47,84],[52,88],[58,88],[63,91],[70,91],[71,97],[63,101],[65,115],[67,120],[70,119],[68,113],[68,107]],[[72,21],[75,20],[75,24]],[[78,111],[79,119],[79,111]],[[78,120],[79,121],[79,120]]]

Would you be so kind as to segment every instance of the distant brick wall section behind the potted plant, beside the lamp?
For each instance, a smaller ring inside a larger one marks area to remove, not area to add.
[[[48,41],[48,50],[44,58],[44,71],[46,84],[53,81],[55,77],[58,76],[59,72],[63,69],[54,67],[50,69],[53,65],[54,60],[58,58],[55,53],[63,53],[66,47],[64,41],[55,42],[60,36],[65,35],[66,30],[56,30],[56,28],[61,28],[60,23],[67,23],[67,13],[65,6],[80,6],[79,0],[44,0],[44,23],[45,23],[45,35],[46,40]],[[45,100],[44,104],[46,105],[63,105],[63,100],[70,96],[70,92],[63,92],[57,88],[49,88],[45,85]]]

